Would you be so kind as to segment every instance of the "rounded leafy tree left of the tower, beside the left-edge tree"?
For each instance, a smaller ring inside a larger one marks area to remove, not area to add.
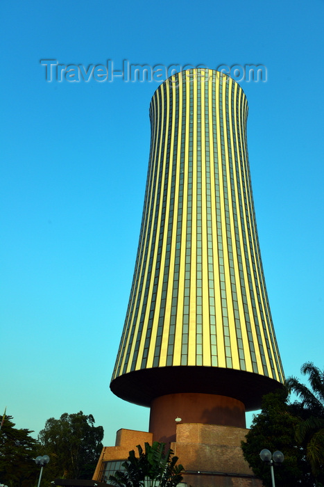
[[[62,414],[59,420],[53,417],[46,421],[38,440],[44,454],[50,456],[44,469],[44,478],[91,479],[103,448],[103,427],[94,426],[94,417]]]

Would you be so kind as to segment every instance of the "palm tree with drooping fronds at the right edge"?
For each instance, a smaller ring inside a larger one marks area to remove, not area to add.
[[[300,383],[296,377],[287,379],[287,387],[301,399],[291,405],[300,417],[296,426],[296,440],[306,444],[307,458],[314,476],[318,478],[324,470],[324,371],[312,362],[306,362],[301,372],[308,375],[311,388]]]

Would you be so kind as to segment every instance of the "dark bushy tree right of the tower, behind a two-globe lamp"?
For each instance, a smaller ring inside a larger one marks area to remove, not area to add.
[[[262,479],[265,487],[271,487],[270,467],[259,457],[262,449],[270,452],[280,450],[284,454],[284,462],[275,468],[275,479],[284,487],[313,487],[314,477],[306,459],[305,447],[295,439],[296,426],[299,419],[289,410],[287,390],[267,394],[262,401],[262,411],[255,415],[242,442],[244,458],[253,469],[255,475]]]

